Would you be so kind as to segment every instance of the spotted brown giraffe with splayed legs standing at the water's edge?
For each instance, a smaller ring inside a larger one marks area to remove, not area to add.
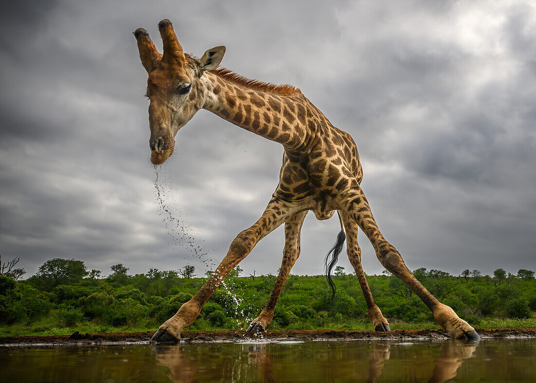
[[[330,219],[338,212],[348,238],[348,258],[358,276],[368,317],[376,331],[390,331],[390,327],[374,302],[361,266],[358,227],[373,245],[379,262],[422,299],[453,339],[480,339],[473,327],[422,286],[379,231],[360,187],[363,171],[350,134],[334,127],[300,89],[250,80],[219,67],[225,47],[209,49],[198,59],[183,52],[169,20],[161,20],[158,28],[163,54],[157,51],[145,29],[133,32],[142,65],[148,73],[151,162],[159,165],[168,159],[178,130],[199,109],[209,110],[234,125],[278,142],[284,147],[284,154],[279,183],[264,213],[236,236],[209,279],[160,326],[152,341],[180,340],[183,329],[197,318],[229,272],[260,239],[284,223],[285,247],[279,275],[266,306],[248,328],[250,332],[265,331],[273,319],[287,276],[300,256],[300,232],[309,211],[318,220]]]

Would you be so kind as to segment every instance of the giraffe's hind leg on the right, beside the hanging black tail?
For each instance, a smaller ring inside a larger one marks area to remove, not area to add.
[[[376,331],[391,331],[389,322],[382,315],[382,311],[379,310],[376,302],[374,302],[372,292],[370,292],[367,283],[367,277],[365,276],[363,266],[361,265],[361,249],[358,244],[358,224],[346,213],[339,211],[339,214],[341,214],[344,229],[346,231],[346,252],[348,254],[348,259],[355,270],[355,274],[358,275],[359,284],[361,290],[363,290],[365,302],[367,302],[368,317]]]

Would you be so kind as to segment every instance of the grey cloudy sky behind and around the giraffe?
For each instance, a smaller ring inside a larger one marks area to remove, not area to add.
[[[254,223],[282,147],[201,110],[149,161],[147,75],[173,21],[195,55],[288,83],[352,134],[362,187],[409,268],[536,268],[536,7],[526,1],[18,1],[0,14],[0,254],[200,275]],[[158,189],[156,186],[158,186]],[[160,192],[161,199],[158,198]],[[294,274],[321,274],[337,218],[307,216]],[[361,234],[363,266],[379,274]],[[242,262],[276,273],[282,228]],[[346,257],[340,266],[351,271]]]

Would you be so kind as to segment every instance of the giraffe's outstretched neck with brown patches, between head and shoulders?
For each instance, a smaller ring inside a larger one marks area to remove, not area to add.
[[[309,101],[302,94],[261,92],[210,72],[206,72],[203,79],[207,92],[204,109],[245,130],[279,142],[290,152],[305,152],[311,146],[317,123],[308,107]]]

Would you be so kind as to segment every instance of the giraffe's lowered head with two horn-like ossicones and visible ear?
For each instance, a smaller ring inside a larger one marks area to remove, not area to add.
[[[163,41],[163,55],[154,47],[143,28],[134,32],[139,57],[147,71],[147,97],[151,138],[151,162],[159,165],[166,161],[175,147],[175,134],[205,102],[202,76],[215,69],[225,54],[225,47],[215,47],[195,59],[185,55],[171,21],[158,23]]]

